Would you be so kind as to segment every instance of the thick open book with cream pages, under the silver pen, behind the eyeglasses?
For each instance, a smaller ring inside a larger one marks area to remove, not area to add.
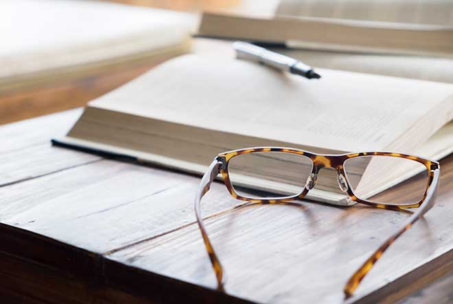
[[[243,60],[183,55],[91,101],[58,142],[198,174],[218,153],[245,147],[437,160],[453,151],[452,125],[443,127],[453,118],[453,85],[317,71],[321,79],[307,80]],[[322,186],[311,198],[338,201],[328,191],[336,182]]]

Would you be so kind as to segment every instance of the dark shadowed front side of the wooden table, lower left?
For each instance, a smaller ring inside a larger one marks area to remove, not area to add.
[[[247,303],[222,292],[201,290],[105,261],[100,255],[30,231],[3,224],[0,231],[0,295],[7,303],[167,304],[187,299],[195,303]]]

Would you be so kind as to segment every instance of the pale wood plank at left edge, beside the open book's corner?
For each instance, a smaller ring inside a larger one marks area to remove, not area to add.
[[[80,109],[71,110],[1,126],[0,187],[100,160],[51,147],[51,138],[64,136],[80,114]]]

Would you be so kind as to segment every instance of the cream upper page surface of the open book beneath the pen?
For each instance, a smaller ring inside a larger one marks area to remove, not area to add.
[[[184,55],[90,106],[342,151],[384,149],[441,103],[453,107],[450,84],[318,73],[321,79],[308,80],[243,60]],[[447,111],[444,123],[453,115]],[[424,140],[437,129],[428,127]],[[413,148],[408,142],[404,149]]]

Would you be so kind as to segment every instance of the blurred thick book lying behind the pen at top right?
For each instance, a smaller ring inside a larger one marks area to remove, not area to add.
[[[453,3],[351,2],[358,1],[282,0],[267,13],[206,13],[200,34],[333,51],[452,55]]]

